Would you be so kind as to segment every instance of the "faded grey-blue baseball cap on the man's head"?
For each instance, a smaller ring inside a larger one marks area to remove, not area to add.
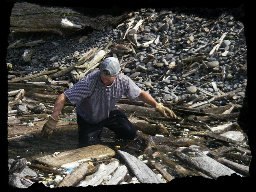
[[[105,74],[103,70],[108,70],[110,74]],[[106,77],[115,76],[120,70],[119,61],[116,57],[108,57],[100,64],[100,73]]]

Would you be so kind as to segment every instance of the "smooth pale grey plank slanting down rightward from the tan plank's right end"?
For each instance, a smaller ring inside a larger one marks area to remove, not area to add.
[[[164,183],[164,181],[148,168],[144,162],[141,162],[125,151],[118,150],[117,153],[122,157],[141,183]]]

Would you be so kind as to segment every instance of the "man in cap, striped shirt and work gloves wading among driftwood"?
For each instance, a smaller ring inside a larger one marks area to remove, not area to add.
[[[84,76],[72,87],[59,95],[53,113],[43,126],[41,134],[49,138],[56,129],[58,116],[65,104],[76,104],[79,139],[98,138],[103,127],[107,127],[119,138],[134,138],[136,129],[125,113],[115,109],[122,96],[130,100],[139,98],[156,108],[156,111],[172,118],[176,115],[162,103],[157,103],[148,92],[141,90],[128,76],[121,73],[119,61],[108,57],[100,65],[100,70]]]

